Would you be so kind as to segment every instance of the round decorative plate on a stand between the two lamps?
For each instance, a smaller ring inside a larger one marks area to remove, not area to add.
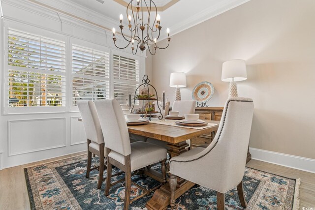
[[[209,82],[201,82],[197,84],[191,93],[193,100],[197,101],[197,107],[208,107],[207,101],[212,98],[215,89]]]

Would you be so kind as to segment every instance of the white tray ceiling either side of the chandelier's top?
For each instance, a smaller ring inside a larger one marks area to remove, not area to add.
[[[96,26],[111,31],[119,25],[119,15],[124,15],[126,24],[126,4],[128,0],[29,0],[42,6],[55,8],[64,14],[83,18]],[[134,0],[136,1],[136,0]],[[250,0],[154,0],[159,4],[161,16],[161,39],[166,38],[166,28],[170,35],[193,27],[223,12]],[[154,14],[153,14],[154,15]],[[97,17],[95,19],[95,17]],[[104,20],[104,21],[100,21]]]

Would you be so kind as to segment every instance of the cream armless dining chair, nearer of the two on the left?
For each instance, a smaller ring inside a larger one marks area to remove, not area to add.
[[[149,195],[152,190],[141,188],[144,193],[130,200],[131,172],[142,169],[146,166],[162,163],[162,182],[166,182],[166,155],[165,148],[147,142],[130,143],[128,129],[123,111],[116,99],[95,101],[95,107],[99,116],[100,126],[103,135],[106,136],[105,147],[107,154],[107,179],[105,196],[109,194],[111,184],[112,165],[125,172],[125,201],[124,210],[128,209],[129,203]]]

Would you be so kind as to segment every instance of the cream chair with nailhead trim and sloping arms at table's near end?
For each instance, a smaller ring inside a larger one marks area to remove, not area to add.
[[[218,210],[225,210],[224,193],[237,186],[241,205],[246,208],[242,179],[252,115],[252,99],[229,98],[224,106],[218,132],[211,144],[207,148],[197,147],[170,159],[172,209],[176,199],[176,176],[216,190]]]

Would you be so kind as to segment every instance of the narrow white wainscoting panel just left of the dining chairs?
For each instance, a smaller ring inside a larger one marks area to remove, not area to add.
[[[78,118],[81,117],[71,117],[71,146],[87,143],[83,122]]]

